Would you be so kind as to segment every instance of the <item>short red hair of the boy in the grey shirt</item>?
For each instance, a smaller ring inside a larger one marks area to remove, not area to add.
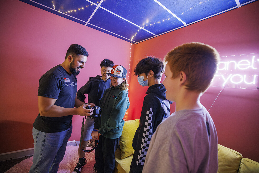
[[[210,86],[219,60],[219,53],[214,47],[199,42],[177,46],[165,56],[172,78],[183,71],[187,77],[186,89],[200,93]]]

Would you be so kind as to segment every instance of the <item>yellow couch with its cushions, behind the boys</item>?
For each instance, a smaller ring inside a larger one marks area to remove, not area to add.
[[[125,121],[120,139],[120,148],[115,153],[115,173],[130,172],[133,157],[132,139],[139,126],[139,120]],[[243,156],[230,148],[218,144],[218,173],[259,173],[259,163]]]

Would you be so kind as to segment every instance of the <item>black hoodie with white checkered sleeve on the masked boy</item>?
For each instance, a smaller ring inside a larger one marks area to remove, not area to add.
[[[170,116],[171,101],[166,99],[166,88],[163,84],[155,84],[148,88],[143,101],[139,127],[133,138],[132,147],[135,150],[130,172],[141,172],[147,150],[157,126]]]

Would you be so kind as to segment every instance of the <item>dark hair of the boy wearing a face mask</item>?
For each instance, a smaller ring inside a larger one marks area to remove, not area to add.
[[[145,73],[146,75],[150,70],[154,72],[154,77],[156,79],[161,79],[164,72],[164,63],[158,58],[147,57],[139,61],[139,63],[134,68],[135,75]]]

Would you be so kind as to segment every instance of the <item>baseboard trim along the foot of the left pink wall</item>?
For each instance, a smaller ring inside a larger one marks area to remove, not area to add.
[[[67,145],[78,146],[79,143],[80,143],[80,141],[74,140],[74,141],[68,141]],[[8,153],[2,153],[2,154],[0,154],[0,162],[5,161],[5,160],[10,160],[10,159],[13,159],[13,158],[32,156],[33,150],[34,150],[34,148],[28,148],[28,149],[23,149],[23,150],[11,151],[11,152],[8,152]]]

